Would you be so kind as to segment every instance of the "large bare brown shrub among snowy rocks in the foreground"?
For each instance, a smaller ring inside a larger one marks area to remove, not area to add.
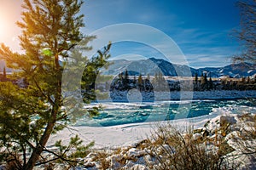
[[[151,139],[154,169],[221,169],[218,148],[193,139],[193,131],[182,134],[171,124],[158,127]],[[215,150],[214,150],[215,149]]]

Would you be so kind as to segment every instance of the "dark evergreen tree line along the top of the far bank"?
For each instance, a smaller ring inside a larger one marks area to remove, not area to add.
[[[183,80],[188,81],[189,80]],[[166,83],[168,88],[166,88]],[[255,79],[251,80],[250,77],[242,77],[240,80],[222,79],[212,80],[211,75],[207,77],[207,73],[202,73],[201,77],[195,73],[193,80],[194,91],[207,91],[207,90],[253,90],[255,89]],[[165,80],[163,74],[158,72],[151,77],[146,77],[142,74],[139,76],[129,76],[128,71],[119,73],[118,77],[114,78],[110,90],[111,91],[127,91],[132,88],[137,88],[142,92],[164,91],[163,89],[169,89],[170,91],[180,91],[181,86],[191,83],[180,83],[179,81]],[[183,88],[184,89],[184,88]],[[189,88],[188,88],[189,89]]]

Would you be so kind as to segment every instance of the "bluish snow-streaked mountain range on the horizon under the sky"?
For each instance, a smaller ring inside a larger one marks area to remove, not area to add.
[[[138,76],[140,73],[142,75],[154,76],[156,73],[161,72],[165,76],[177,77],[177,76],[195,76],[195,73],[201,76],[201,73],[207,73],[209,77],[252,77],[256,75],[256,65],[249,63],[239,63],[226,65],[224,67],[205,67],[195,69],[189,67],[188,65],[177,65],[172,64],[165,59],[141,59],[141,60],[126,60],[126,59],[116,59],[110,61],[112,65],[109,65],[107,70],[102,70],[104,75],[118,75],[120,72],[128,71],[130,76]],[[191,73],[189,73],[191,71]]]

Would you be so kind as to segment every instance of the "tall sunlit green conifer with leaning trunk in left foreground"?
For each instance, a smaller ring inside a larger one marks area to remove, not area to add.
[[[46,148],[50,134],[71,120],[61,109],[65,60],[80,42],[84,42],[84,50],[90,49],[86,43],[94,38],[84,37],[80,31],[84,26],[84,15],[79,14],[82,4],[80,0],[24,0],[22,21],[17,23],[24,53],[14,53],[1,44],[0,55],[8,67],[18,70],[16,77],[28,83],[27,88],[0,83],[0,158],[14,161],[15,169],[31,170],[55,160],[75,163],[74,156],[67,156],[71,147],[85,153],[87,147],[79,146],[78,137],[69,146],[56,143],[59,152]],[[107,53],[102,54],[95,61],[105,62]]]

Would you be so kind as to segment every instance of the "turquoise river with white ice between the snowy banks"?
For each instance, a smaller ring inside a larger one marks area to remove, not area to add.
[[[196,99],[145,103],[93,103],[102,105],[98,116],[82,117],[75,126],[108,127],[137,122],[158,122],[211,115],[224,111],[233,114],[256,113],[256,99]]]

